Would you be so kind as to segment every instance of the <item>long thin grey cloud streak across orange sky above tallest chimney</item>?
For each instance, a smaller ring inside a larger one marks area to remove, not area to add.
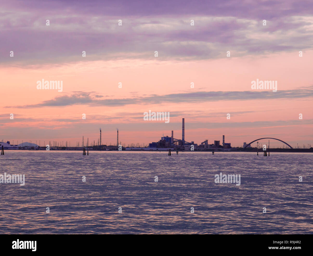
[[[40,107],[64,107],[78,104],[90,106],[125,106],[131,104],[162,104],[182,102],[215,102],[233,100],[255,100],[255,99],[300,99],[312,97],[313,88],[307,87],[296,90],[272,91],[233,91],[233,92],[192,92],[172,93],[165,95],[149,95],[144,97],[122,98],[122,99],[98,99],[87,92],[74,92],[71,95],[57,96],[54,99],[42,103],[24,106],[6,106],[4,108],[40,108]]]

